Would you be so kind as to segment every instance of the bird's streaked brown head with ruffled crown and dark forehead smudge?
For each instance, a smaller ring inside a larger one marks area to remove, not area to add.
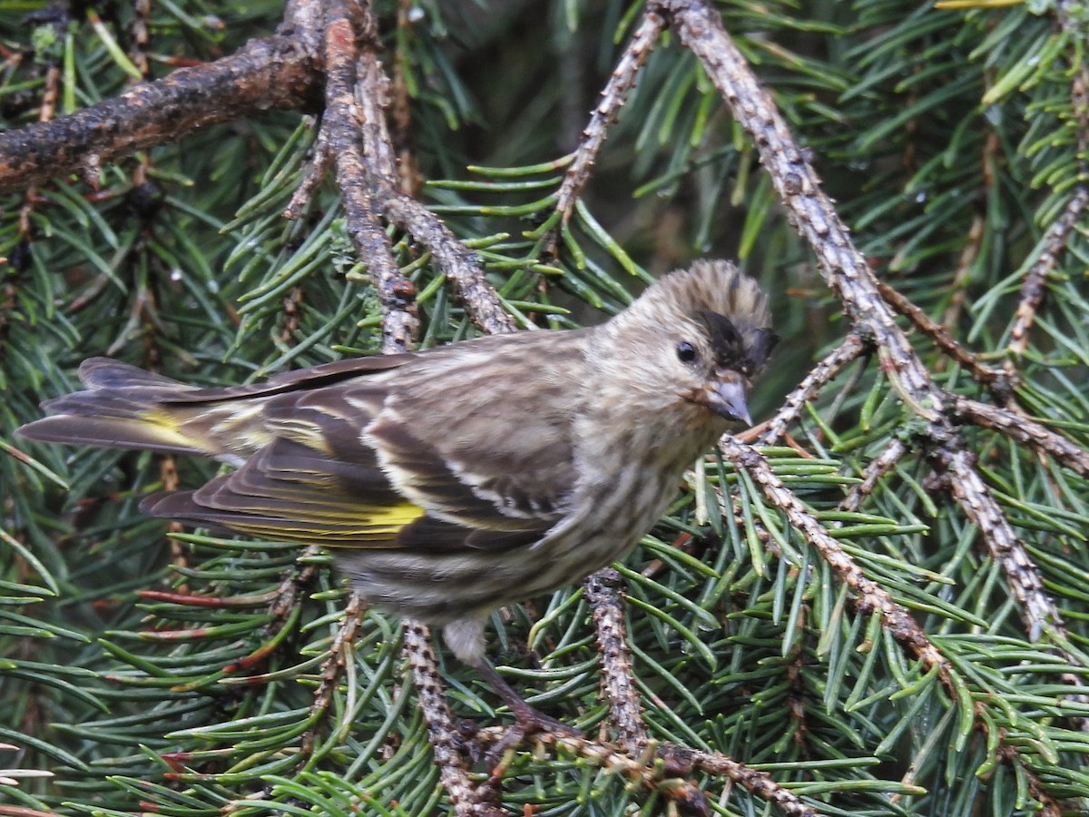
[[[779,338],[767,296],[734,265],[699,260],[671,272],[604,329],[622,350],[614,370],[645,407],[751,424],[751,380]]]

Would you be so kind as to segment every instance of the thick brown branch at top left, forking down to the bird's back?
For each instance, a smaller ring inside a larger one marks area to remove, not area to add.
[[[296,0],[289,3],[277,37],[250,40],[234,54],[178,69],[163,80],[139,84],[53,122],[0,133],[0,191],[75,171],[97,178],[105,163],[238,115],[317,108],[325,84],[325,117],[331,122],[322,125],[325,133],[315,149],[330,151],[337,159],[348,231],[372,269],[387,307],[384,347],[407,347],[416,330],[415,288],[397,271],[376,215],[431,249],[481,328],[514,330],[516,325],[487,282],[477,256],[400,188],[395,151],[383,120],[388,80],[377,59],[375,22],[369,5],[356,11],[344,0]],[[367,48],[360,50],[359,40]],[[359,77],[357,59],[364,74]],[[355,92],[358,107],[352,98]],[[362,123],[355,119],[360,112]],[[363,151],[352,133],[359,124],[366,143]],[[289,216],[301,211],[328,164],[328,159],[315,159],[289,204]]]

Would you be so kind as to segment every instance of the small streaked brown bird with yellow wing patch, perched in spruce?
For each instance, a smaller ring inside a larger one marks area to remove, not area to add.
[[[91,358],[79,368],[88,390],[48,401],[54,416],[20,434],[230,463],[142,508],[332,548],[368,602],[441,625],[454,655],[533,722],[484,660],[486,618],[579,581],[650,529],[696,456],[727,424],[750,422],[750,379],[776,341],[769,327],[757,284],[705,260],[600,326],[339,361],[254,386],[198,388]]]

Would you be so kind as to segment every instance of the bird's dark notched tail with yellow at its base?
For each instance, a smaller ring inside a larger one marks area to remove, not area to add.
[[[84,361],[79,379],[88,387],[86,391],[46,401],[42,407],[53,416],[28,423],[16,434],[42,442],[211,456],[222,453],[212,439],[186,427],[191,408],[170,405],[183,402],[197,387],[108,357]]]

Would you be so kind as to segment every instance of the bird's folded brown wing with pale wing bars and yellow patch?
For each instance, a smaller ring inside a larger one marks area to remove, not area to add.
[[[208,392],[223,417],[232,399],[256,398],[247,427],[260,444],[234,473],[145,508],[331,547],[507,549],[538,540],[566,512],[575,481],[571,411],[550,374],[556,364],[515,367],[511,381],[490,364],[497,355],[516,363],[525,342],[467,345],[462,355],[418,355],[419,365],[388,377],[353,376],[346,364],[331,371],[333,364],[267,390]]]

